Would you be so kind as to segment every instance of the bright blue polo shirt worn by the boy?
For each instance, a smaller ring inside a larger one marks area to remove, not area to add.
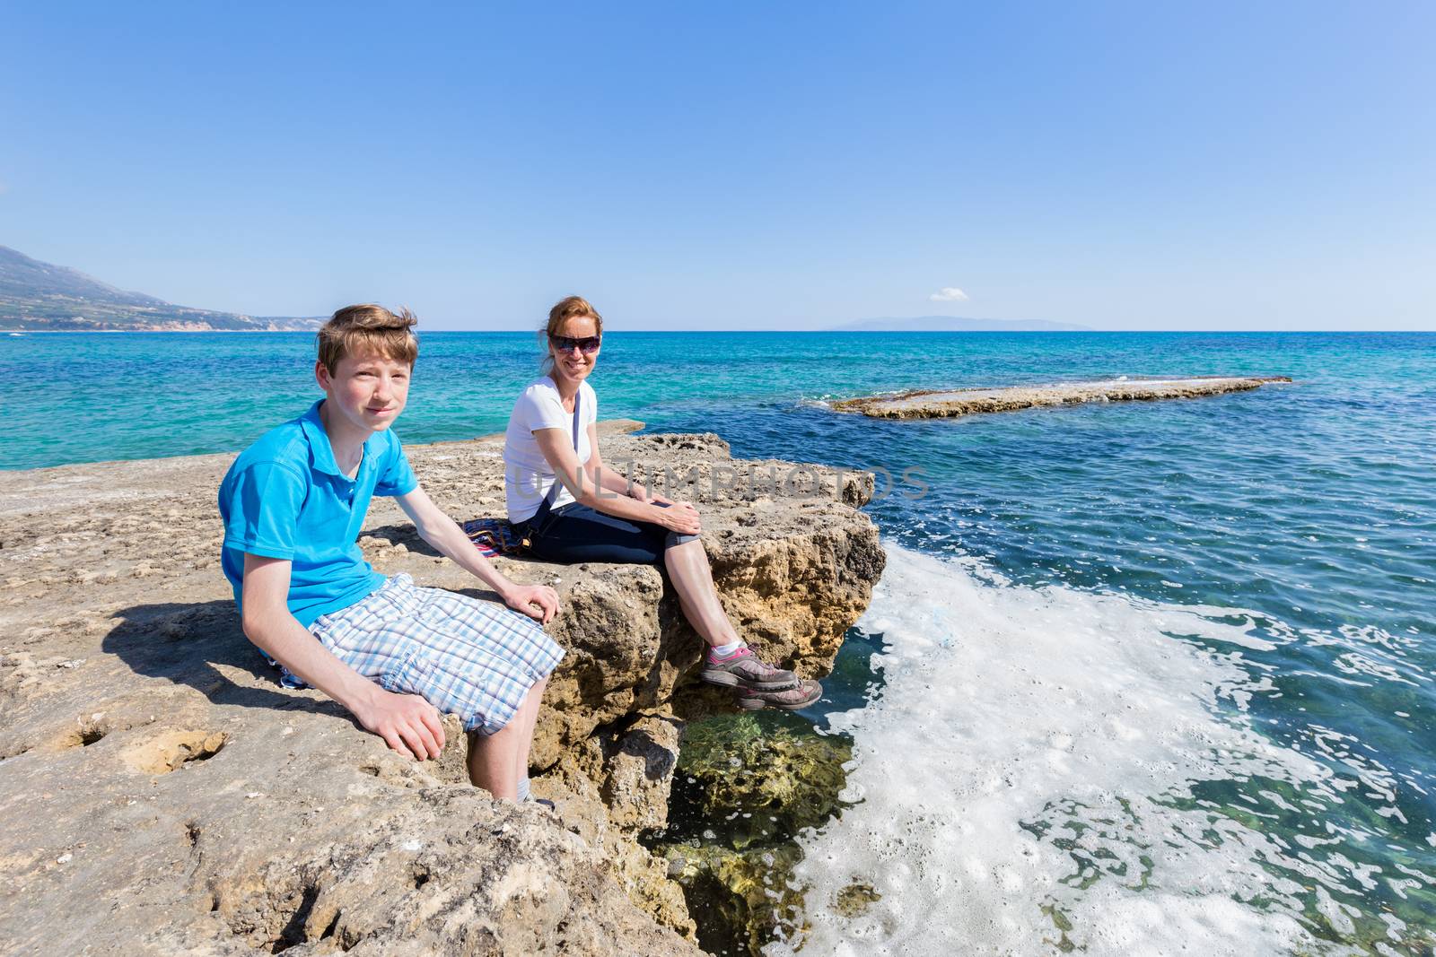
[[[224,575],[241,604],[244,552],[287,558],[289,610],[306,628],[383,584],[363,560],[359,529],[373,495],[408,495],[419,482],[388,429],[363,443],[350,479],[335,463],[316,402],[240,452],[220,484]]]

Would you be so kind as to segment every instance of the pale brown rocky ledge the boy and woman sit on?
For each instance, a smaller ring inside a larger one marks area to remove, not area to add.
[[[605,458],[699,502],[729,614],[824,674],[883,568],[867,473],[737,462],[714,435],[628,435]],[[501,440],[411,448],[455,518],[503,511]],[[649,567],[500,560],[563,600],[569,650],[534,742],[557,812],[494,802],[451,725],[389,752],[240,633],[214,491],[231,456],[0,473],[0,953],[689,954],[662,828],[698,637]],[[691,482],[691,485],[689,485]],[[383,572],[484,597],[378,499]],[[493,595],[487,595],[493,598]],[[452,719],[451,719],[452,720]]]

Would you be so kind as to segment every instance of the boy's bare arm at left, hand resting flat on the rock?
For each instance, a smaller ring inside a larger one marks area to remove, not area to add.
[[[289,611],[289,562],[244,555],[244,634],[304,683],[335,699],[401,755],[424,760],[444,749],[438,710],[418,694],[395,694],[329,653]]]

